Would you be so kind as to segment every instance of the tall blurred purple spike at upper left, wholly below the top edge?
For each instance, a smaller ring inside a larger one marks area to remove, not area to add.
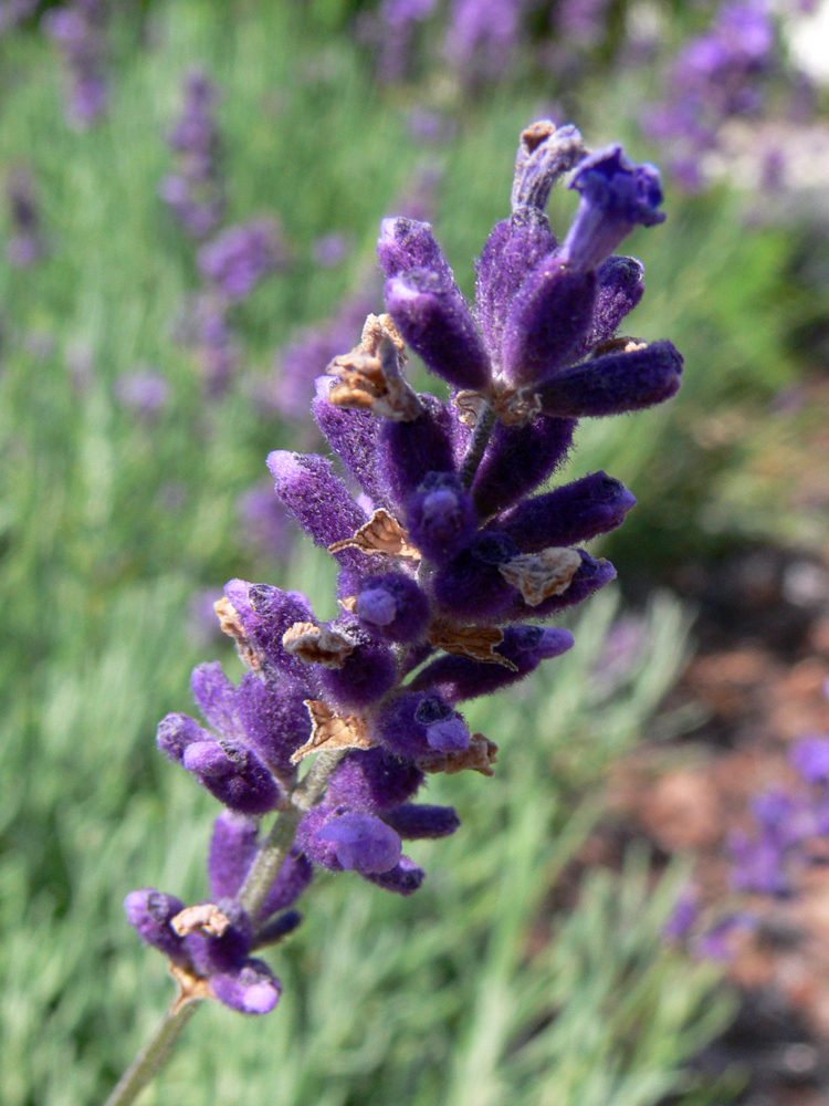
[[[168,139],[178,157],[177,171],[165,177],[159,189],[193,238],[209,234],[224,215],[217,98],[216,86],[204,73],[190,73],[185,83],[185,106]]]

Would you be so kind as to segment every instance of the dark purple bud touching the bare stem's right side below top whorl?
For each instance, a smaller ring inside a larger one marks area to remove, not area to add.
[[[562,466],[573,444],[574,419],[534,419],[528,426],[499,422],[472,484],[486,519],[516,503]]]

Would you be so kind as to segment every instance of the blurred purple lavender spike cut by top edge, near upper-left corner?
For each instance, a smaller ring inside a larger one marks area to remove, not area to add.
[[[44,25],[63,53],[70,122],[88,127],[103,115],[108,100],[105,0],[73,0],[53,8],[44,17]]]

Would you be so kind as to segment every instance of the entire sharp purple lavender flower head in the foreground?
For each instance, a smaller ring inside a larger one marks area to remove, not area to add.
[[[559,242],[544,213],[575,168],[580,206]],[[315,868],[354,872],[409,895],[422,868],[403,842],[454,833],[452,807],[413,802],[427,773],[493,774],[497,747],[472,733],[464,702],[491,695],[573,645],[539,623],[615,576],[585,542],[634,503],[595,472],[534,494],[562,465],[576,420],[659,403],[679,387],[668,342],[617,338],[643,292],[642,265],[613,250],[662,220],[659,175],[621,147],[588,154],[574,127],[522,136],[512,215],[478,262],[473,312],[431,227],[382,223],[388,313],[317,382],[314,416],[354,498],[326,457],[275,451],[276,495],[339,565],[342,613],[231,581],[217,604],[250,671],[193,674],[210,729],[169,714],[159,748],[227,807],[210,852],[212,901],[155,890],[127,899],[140,936],[171,960],[190,995],[270,1010],[280,984],[251,956],[297,922]],[[412,390],[406,348],[452,389]],[[314,754],[312,769],[297,769]],[[276,812],[259,837],[259,820]],[[200,990],[199,990],[200,989]]]

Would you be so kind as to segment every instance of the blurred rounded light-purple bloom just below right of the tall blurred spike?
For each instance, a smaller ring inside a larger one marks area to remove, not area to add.
[[[269,272],[287,261],[274,219],[228,227],[199,250],[199,269],[229,300],[244,300]]]

